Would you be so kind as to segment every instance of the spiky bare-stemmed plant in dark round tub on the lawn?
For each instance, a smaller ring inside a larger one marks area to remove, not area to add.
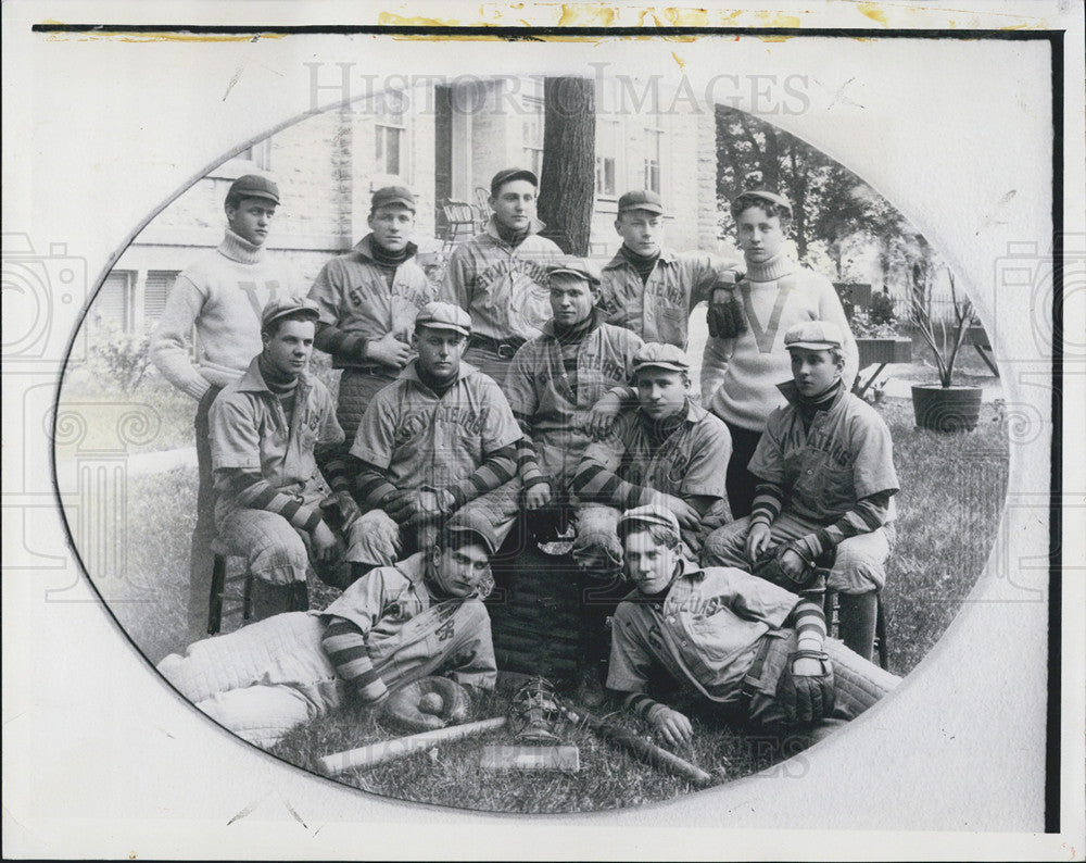
[[[917,425],[934,432],[972,432],[981,415],[981,388],[955,386],[954,364],[958,351],[974,324],[973,303],[969,298],[958,299],[954,274],[948,274],[950,305],[954,322],[933,321],[931,307],[924,302],[924,292],[913,291],[911,316],[917,330],[935,354],[938,384],[914,384],[912,410]]]

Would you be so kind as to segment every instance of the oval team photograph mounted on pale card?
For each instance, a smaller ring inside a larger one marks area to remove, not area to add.
[[[985,566],[1015,417],[984,276],[773,123],[801,87],[430,80],[154,213],[53,428],[147,661],[289,764],[530,814],[758,774],[893,698]]]

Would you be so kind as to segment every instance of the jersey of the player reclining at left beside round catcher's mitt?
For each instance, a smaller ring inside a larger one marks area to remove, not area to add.
[[[455,625],[453,615],[464,603],[480,600],[471,597],[434,602],[424,578],[427,558],[427,552],[419,552],[392,566],[370,570],[324,611],[311,614],[325,620],[343,617],[357,626],[375,667],[390,661],[405,642],[419,640],[414,630],[431,630],[439,640],[445,640],[441,628]],[[472,665],[489,671],[482,676],[492,678],[496,671],[489,618],[483,614],[473,620],[479,621],[479,638]],[[452,636],[449,633],[447,637]]]

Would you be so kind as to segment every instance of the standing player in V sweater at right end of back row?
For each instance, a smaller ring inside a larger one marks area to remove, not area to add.
[[[728,500],[736,518],[749,515],[757,478],[747,463],[769,415],[784,404],[776,385],[790,374],[784,334],[803,321],[829,321],[842,332],[845,387],[859,364],[856,340],[833,285],[825,276],[788,258],[784,242],[792,204],[773,191],[740,195],[731,204],[746,276],[734,291],[715,292],[709,307],[710,336],[702,360],[702,403],[728,424],[732,461]],[[723,300],[728,295],[734,302]],[[722,300],[721,302],[716,302]],[[740,307],[737,326],[712,326],[718,309]]]

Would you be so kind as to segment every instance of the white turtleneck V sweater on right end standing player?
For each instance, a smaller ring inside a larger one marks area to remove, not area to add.
[[[824,276],[799,266],[783,252],[762,263],[747,261],[736,293],[747,330],[734,339],[709,338],[702,359],[702,402],[728,423],[762,432],[784,405],[778,384],[792,379],[784,334],[801,321],[832,321],[845,336],[846,388],[856,379],[859,355],[837,292]],[[782,296],[781,278],[792,287]]]

